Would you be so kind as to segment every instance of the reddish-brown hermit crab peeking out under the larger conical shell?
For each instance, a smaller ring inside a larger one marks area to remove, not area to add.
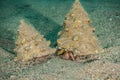
[[[100,59],[100,57],[96,54],[75,55],[73,51],[61,47],[56,47],[56,55],[62,59],[72,60],[77,62],[89,62]]]

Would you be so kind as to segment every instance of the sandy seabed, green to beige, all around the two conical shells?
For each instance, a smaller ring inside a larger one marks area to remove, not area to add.
[[[81,0],[100,44],[100,60],[77,63],[53,57],[34,66],[13,62],[19,20],[30,22],[55,46],[74,0],[0,0],[0,80],[119,80],[120,1]],[[52,36],[51,36],[52,35]]]

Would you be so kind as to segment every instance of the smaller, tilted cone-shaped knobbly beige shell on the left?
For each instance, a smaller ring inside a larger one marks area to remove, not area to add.
[[[49,47],[50,41],[46,41],[43,35],[39,34],[30,24],[20,21],[16,47],[17,54],[15,61],[28,61],[35,57],[42,57],[55,53],[55,49]]]

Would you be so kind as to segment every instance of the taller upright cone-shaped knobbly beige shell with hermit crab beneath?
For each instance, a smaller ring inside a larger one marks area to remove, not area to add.
[[[72,51],[74,56],[103,52],[94,35],[95,29],[90,26],[88,14],[79,0],[75,0],[63,26],[63,30],[57,40],[57,45],[61,49]]]

